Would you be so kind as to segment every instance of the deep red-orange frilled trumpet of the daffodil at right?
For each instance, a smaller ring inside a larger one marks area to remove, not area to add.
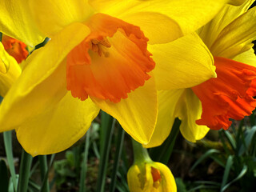
[[[217,78],[194,86],[202,102],[202,116],[196,122],[210,129],[228,129],[230,118],[241,120],[255,109],[256,68],[228,58],[214,58]]]

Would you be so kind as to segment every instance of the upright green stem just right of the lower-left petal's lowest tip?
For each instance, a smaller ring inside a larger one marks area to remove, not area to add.
[[[48,182],[48,166],[47,166],[47,157],[46,155],[38,156],[40,162],[40,174],[42,181],[42,192],[50,192],[49,182]],[[46,179],[46,182],[44,182]]]

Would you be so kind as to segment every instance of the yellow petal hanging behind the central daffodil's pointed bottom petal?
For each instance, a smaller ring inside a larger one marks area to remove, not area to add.
[[[184,89],[158,91],[158,120],[150,142],[145,147],[160,146],[170,134],[174,124],[177,102]]]

